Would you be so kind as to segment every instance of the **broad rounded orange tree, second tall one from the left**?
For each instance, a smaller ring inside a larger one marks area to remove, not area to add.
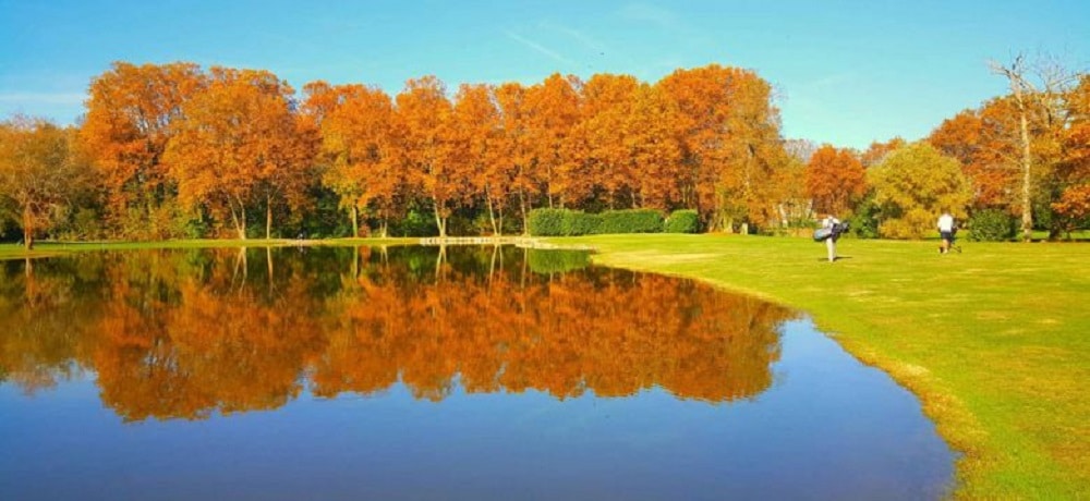
[[[301,200],[315,136],[292,112],[292,88],[267,71],[213,68],[208,87],[187,101],[165,156],[179,197],[230,218],[246,237],[246,210],[264,205],[271,236],[278,197]]]

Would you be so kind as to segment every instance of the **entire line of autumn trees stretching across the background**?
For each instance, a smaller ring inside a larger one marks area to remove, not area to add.
[[[92,82],[77,126],[0,124],[0,207],[27,245],[47,231],[245,239],[262,216],[266,237],[404,234],[424,217],[434,234],[502,234],[540,207],[695,209],[710,231],[833,211],[893,237],[919,236],[943,208],[995,209],[1070,230],[1090,205],[1090,80],[1034,85],[1021,59],[996,68],[1012,95],[917,144],[857,151],[785,139],[771,86],[715,64],[654,84],[556,74],[452,96],[426,76],[390,97],[119,62]]]

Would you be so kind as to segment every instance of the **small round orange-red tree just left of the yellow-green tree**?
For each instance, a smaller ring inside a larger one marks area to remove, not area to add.
[[[867,192],[863,164],[851,150],[831,145],[814,151],[804,178],[807,194],[819,212],[848,212]]]

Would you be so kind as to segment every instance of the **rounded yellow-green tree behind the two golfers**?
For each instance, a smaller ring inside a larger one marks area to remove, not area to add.
[[[913,143],[867,171],[880,208],[879,233],[891,239],[919,239],[934,232],[938,215],[965,218],[971,199],[957,160],[928,143]]]

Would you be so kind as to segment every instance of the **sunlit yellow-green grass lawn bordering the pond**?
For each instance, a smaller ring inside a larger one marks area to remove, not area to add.
[[[962,454],[958,497],[1090,497],[1090,245],[960,242],[962,254],[940,255],[936,241],[845,239],[829,264],[824,245],[795,237],[550,242],[590,245],[600,265],[691,277],[809,313],[920,396]],[[43,244],[36,254],[239,244]],[[22,256],[0,245],[0,259]]]

